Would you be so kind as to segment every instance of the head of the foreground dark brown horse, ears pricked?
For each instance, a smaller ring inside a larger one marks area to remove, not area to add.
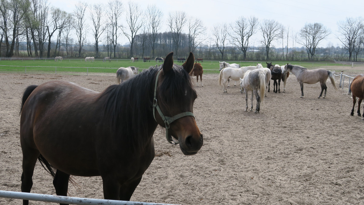
[[[166,128],[166,137],[170,143],[173,143],[171,136],[178,139],[179,147],[185,155],[196,154],[203,144],[202,134],[193,115],[197,92],[189,73],[194,60],[194,55],[190,52],[186,62],[180,66],[173,63],[173,52],[168,54],[162,69],[158,71],[154,91],[155,120]]]

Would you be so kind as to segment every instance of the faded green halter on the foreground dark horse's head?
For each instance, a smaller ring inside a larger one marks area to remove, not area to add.
[[[169,126],[172,122],[174,122],[175,120],[179,119],[179,118],[182,118],[182,117],[186,117],[186,116],[192,116],[193,118],[195,118],[195,115],[193,115],[192,112],[184,112],[184,113],[179,113],[177,115],[174,115],[173,117],[167,117],[165,115],[163,115],[162,113],[162,110],[161,108],[158,106],[158,103],[157,103],[157,85],[158,85],[158,77],[159,77],[159,74],[161,74],[162,72],[162,69],[158,72],[157,74],[157,77],[155,78],[155,86],[154,86],[154,98],[153,98],[153,116],[154,116],[154,119],[155,119],[155,109],[157,109],[158,111],[158,114],[161,116],[163,122],[165,123],[166,125],[166,138],[167,138],[167,141],[173,145],[176,145],[178,144],[179,142],[178,141],[174,141],[172,136],[168,133],[168,129],[169,129]],[[155,121],[157,121],[157,119],[155,119]]]

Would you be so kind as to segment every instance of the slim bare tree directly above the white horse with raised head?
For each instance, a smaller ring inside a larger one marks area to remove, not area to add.
[[[225,52],[225,43],[227,40],[228,31],[227,31],[227,24],[216,24],[214,25],[211,31],[213,38],[211,40],[214,42],[215,46],[221,53],[221,59],[224,58]]]

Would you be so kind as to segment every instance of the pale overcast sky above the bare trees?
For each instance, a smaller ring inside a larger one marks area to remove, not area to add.
[[[170,11],[185,11],[187,15],[194,16],[203,21],[207,27],[207,33],[217,23],[232,23],[238,17],[255,16],[259,21],[273,19],[289,27],[291,31],[299,31],[305,23],[323,23],[331,29],[332,34],[328,40],[321,43],[326,47],[329,42],[334,46],[340,44],[336,39],[337,22],[346,17],[364,16],[364,0],[134,0],[146,9],[148,4],[156,4],[164,13],[164,24]],[[76,1],[74,0],[49,0],[50,5],[72,12]],[[88,4],[107,3],[100,0],[87,0]],[[122,0],[124,5],[128,1]],[[124,18],[124,16],[122,16]],[[162,32],[167,31],[167,27]],[[90,34],[91,35],[91,34]],[[91,37],[91,36],[90,36]],[[92,38],[89,38],[92,39]],[[257,32],[254,40],[255,46],[259,46],[260,32]],[[127,42],[126,39],[122,40]],[[289,43],[291,47],[292,43]],[[274,45],[278,46],[276,43]],[[296,45],[298,46],[298,45]]]

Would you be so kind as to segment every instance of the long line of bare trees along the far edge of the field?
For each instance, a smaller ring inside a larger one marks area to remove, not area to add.
[[[82,57],[91,53],[96,58],[130,58],[164,56],[174,51],[175,56],[194,52],[201,58],[288,60],[298,53],[302,56],[304,50],[307,60],[317,60],[317,54],[323,54],[320,43],[331,34],[322,23],[306,23],[297,32],[273,19],[259,21],[255,16],[215,24],[207,34],[203,21],[184,11],[169,12],[164,18],[156,4],[143,10],[132,1],[96,4],[78,1],[71,13],[52,7],[47,0],[0,0],[0,3],[0,55],[5,57],[61,54]],[[167,25],[167,31],[161,31],[163,24]],[[357,60],[364,50],[363,19],[347,17],[337,26],[335,36],[341,45],[335,50],[341,52],[336,53]],[[122,44],[121,36],[128,42]],[[274,46],[279,44],[281,48]],[[298,53],[297,46],[301,47]]]

